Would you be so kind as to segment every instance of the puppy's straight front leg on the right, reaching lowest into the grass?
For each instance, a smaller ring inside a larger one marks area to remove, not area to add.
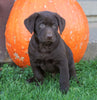
[[[69,68],[68,68],[68,61],[67,59],[64,61],[61,61],[59,65],[60,70],[60,90],[62,92],[67,93],[69,89]]]

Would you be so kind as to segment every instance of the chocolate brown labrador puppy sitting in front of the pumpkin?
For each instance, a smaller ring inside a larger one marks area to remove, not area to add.
[[[59,72],[60,89],[67,93],[69,79],[76,78],[76,72],[72,52],[60,37],[65,27],[65,20],[56,13],[43,11],[32,14],[25,19],[24,24],[30,33],[34,32],[28,47],[34,73],[29,82],[42,84],[45,72]]]

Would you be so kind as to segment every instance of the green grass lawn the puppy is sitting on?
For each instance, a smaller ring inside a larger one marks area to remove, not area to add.
[[[68,93],[59,90],[59,74],[47,74],[44,84],[27,83],[33,76],[31,68],[24,70],[9,64],[1,66],[0,100],[97,100],[97,60],[76,63],[79,84],[70,81]]]

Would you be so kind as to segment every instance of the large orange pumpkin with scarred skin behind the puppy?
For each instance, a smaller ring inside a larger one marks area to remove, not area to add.
[[[28,44],[30,32],[24,20],[38,11],[57,12],[66,20],[62,38],[71,48],[74,61],[83,57],[89,41],[87,18],[76,0],[16,0],[6,25],[6,47],[12,60],[20,67],[30,65]]]

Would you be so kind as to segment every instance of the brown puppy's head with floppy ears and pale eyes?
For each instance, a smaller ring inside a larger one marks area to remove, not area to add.
[[[56,13],[43,11],[34,13],[24,24],[30,33],[34,32],[35,38],[41,43],[53,43],[58,37],[58,27],[62,34],[65,27],[65,20]]]

